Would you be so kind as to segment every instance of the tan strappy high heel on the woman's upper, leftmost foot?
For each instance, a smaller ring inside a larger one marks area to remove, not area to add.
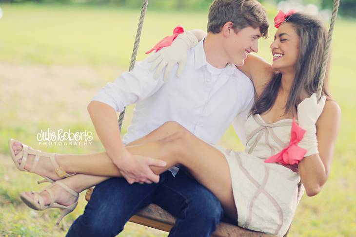
[[[30,173],[34,173],[35,170],[36,170],[36,166],[37,164],[39,163],[39,160],[40,160],[40,157],[45,157],[45,158],[49,158],[50,161],[51,161],[51,164],[53,165],[53,167],[55,168],[55,172],[56,174],[59,176],[59,178],[66,178],[66,177],[69,177],[70,175],[67,174],[67,172],[65,172],[63,170],[62,167],[59,166],[59,164],[56,162],[56,158],[55,158],[55,153],[47,153],[47,152],[43,152],[43,151],[40,151],[40,150],[35,150],[34,148],[32,148],[31,146],[27,146],[27,145],[24,145],[22,144],[22,150],[20,151],[19,154],[15,155],[15,152],[13,150],[13,147],[14,147],[14,143],[15,143],[15,140],[14,139],[10,139],[9,140],[9,149],[10,149],[10,152],[11,152],[11,158],[12,160],[14,161],[16,167],[20,170],[20,171],[27,171],[27,172],[30,172]],[[30,170],[26,170],[24,167],[25,167],[25,164],[27,162],[27,156],[28,155],[35,155],[35,159],[31,165],[31,169]],[[19,164],[18,163],[18,160],[21,159],[21,163]],[[55,181],[46,177],[46,176],[42,176],[44,179],[43,180],[40,180],[38,181],[38,183],[43,183],[43,182],[51,182],[51,183],[54,183]]]

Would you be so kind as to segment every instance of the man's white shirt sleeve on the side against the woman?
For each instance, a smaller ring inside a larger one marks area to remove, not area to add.
[[[247,87],[246,90],[246,100],[245,100],[244,107],[237,114],[237,116],[233,121],[235,132],[244,146],[246,146],[245,122],[250,114],[254,102],[255,102],[255,89],[251,82],[251,84]]]

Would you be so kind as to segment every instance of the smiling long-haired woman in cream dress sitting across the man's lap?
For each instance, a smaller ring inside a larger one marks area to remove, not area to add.
[[[245,123],[245,152],[211,146],[175,122],[163,124],[127,150],[165,161],[165,167],[152,166],[156,174],[184,165],[239,226],[283,236],[301,196],[300,182],[314,196],[330,172],[340,109],[325,89],[320,102],[314,94],[325,43],[319,20],[294,13],[284,19],[270,46],[272,67],[254,56],[246,59],[241,70],[253,80],[257,97]],[[121,177],[106,152],[50,154],[12,139],[9,146],[20,170],[54,182],[41,193],[21,193],[21,199],[36,210],[59,207],[60,219],[76,207],[79,192]]]

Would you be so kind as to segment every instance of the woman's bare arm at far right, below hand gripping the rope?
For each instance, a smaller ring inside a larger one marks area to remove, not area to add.
[[[329,177],[340,120],[340,107],[335,101],[327,101],[316,122],[319,154],[307,156],[298,164],[300,178],[308,196],[318,194]]]

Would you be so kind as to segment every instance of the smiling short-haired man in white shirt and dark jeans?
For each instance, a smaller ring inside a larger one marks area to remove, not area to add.
[[[124,144],[168,121],[177,121],[215,144],[235,118],[243,140],[241,122],[254,102],[254,88],[234,64],[242,65],[248,53],[257,52],[257,39],[267,29],[265,10],[256,0],[215,0],[209,10],[208,36],[189,50],[179,78],[171,73],[167,80],[163,74],[155,79],[145,59],[99,91],[88,110],[106,152],[125,179],[97,185],[67,237],[116,236],[132,215],[152,202],[177,217],[170,237],[209,237],[216,230],[223,210],[209,190],[178,167],[155,175],[149,165],[161,165],[159,161],[131,155]],[[195,36],[184,33],[174,43],[188,42],[190,48],[194,41]],[[121,141],[116,111],[133,103],[137,105],[132,124]]]

